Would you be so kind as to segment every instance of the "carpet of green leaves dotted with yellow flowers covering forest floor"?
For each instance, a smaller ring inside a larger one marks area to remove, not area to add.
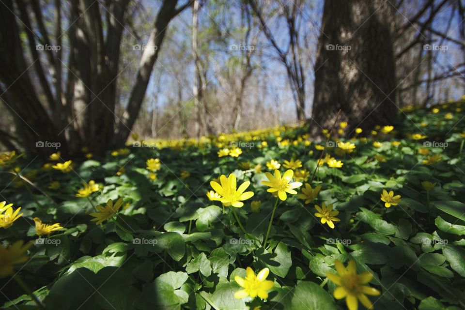
[[[3,153],[3,309],[464,309],[464,106]]]

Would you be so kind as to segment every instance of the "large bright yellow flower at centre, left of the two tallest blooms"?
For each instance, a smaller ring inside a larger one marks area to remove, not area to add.
[[[229,177],[222,174],[219,177],[221,185],[217,182],[210,182],[210,186],[221,196],[219,201],[223,203],[226,207],[232,205],[233,207],[240,208],[244,206],[244,200],[248,200],[253,196],[253,192],[245,192],[247,187],[250,185],[250,181],[246,181],[236,189],[236,176],[231,173]]]

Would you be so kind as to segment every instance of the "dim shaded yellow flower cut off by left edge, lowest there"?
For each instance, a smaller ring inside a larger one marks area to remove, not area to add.
[[[22,240],[16,241],[9,248],[3,248],[0,244],[0,278],[12,276],[14,274],[13,268],[29,259],[25,253],[28,248],[31,248],[32,242],[23,244]]]

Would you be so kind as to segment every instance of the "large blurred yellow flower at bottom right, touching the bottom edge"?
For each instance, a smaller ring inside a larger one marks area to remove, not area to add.
[[[328,279],[338,285],[333,292],[334,298],[342,299],[345,297],[349,310],[357,310],[358,300],[367,309],[372,309],[372,302],[366,295],[377,296],[381,293],[377,289],[363,284],[370,282],[373,275],[368,271],[357,274],[356,264],[353,260],[349,262],[347,268],[339,260],[334,263],[338,274],[330,272],[326,274]]]

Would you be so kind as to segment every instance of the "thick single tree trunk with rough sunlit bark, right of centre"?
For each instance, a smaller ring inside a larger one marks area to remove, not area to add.
[[[329,128],[339,109],[340,120],[349,123],[348,133],[356,127],[395,123],[393,10],[384,0],[325,1],[312,134]]]

